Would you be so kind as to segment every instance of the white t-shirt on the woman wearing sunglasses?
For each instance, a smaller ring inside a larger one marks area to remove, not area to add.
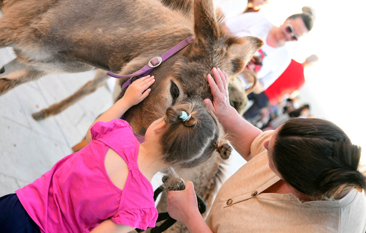
[[[258,12],[248,12],[228,18],[225,23],[231,33],[236,36],[254,36],[262,39],[264,42],[262,51],[265,53],[265,57],[263,58],[262,68],[257,73],[257,77],[259,82],[263,84],[264,89],[267,89],[285,71],[291,62],[285,45],[277,48],[267,45],[267,36],[274,25]],[[258,56],[258,54],[254,55]]]

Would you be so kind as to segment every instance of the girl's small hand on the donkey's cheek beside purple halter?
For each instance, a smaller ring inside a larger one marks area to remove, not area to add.
[[[144,100],[150,93],[149,88],[155,82],[154,76],[147,75],[140,79],[135,80],[128,86],[126,92],[123,95],[123,99],[126,100],[130,106],[134,106]],[[149,89],[147,89],[149,88]]]

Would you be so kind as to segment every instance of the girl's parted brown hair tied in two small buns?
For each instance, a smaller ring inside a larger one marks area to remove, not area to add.
[[[191,118],[187,121],[180,119],[182,111],[191,114]],[[232,148],[222,138],[222,126],[202,103],[193,101],[169,107],[164,121],[167,126],[160,142],[164,159],[169,164],[195,167],[208,160],[214,150],[220,153],[221,158],[229,158]]]

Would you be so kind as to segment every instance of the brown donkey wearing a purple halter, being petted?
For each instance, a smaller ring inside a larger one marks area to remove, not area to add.
[[[193,35],[190,45],[150,73],[156,77],[150,95],[126,112],[134,132],[142,135],[161,108],[197,96],[212,98],[206,81],[212,67],[238,74],[262,45],[254,37],[230,35],[212,0],[0,0],[0,7],[0,47],[13,47],[17,56],[1,69],[0,94],[48,73],[100,68],[130,74]],[[106,77],[98,72],[85,89]],[[209,205],[220,161],[215,154],[197,168],[177,169]]]

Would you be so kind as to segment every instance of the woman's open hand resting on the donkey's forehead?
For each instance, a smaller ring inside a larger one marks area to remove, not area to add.
[[[204,99],[203,103],[209,107],[216,117],[223,122],[232,111],[229,103],[228,85],[229,79],[226,72],[220,68],[212,69],[214,79],[210,74],[207,75],[207,81],[213,96],[213,102],[210,99]]]

